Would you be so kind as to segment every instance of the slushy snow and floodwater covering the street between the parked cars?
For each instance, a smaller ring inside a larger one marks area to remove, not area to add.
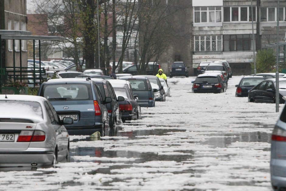
[[[142,108],[141,120],[101,141],[71,136],[71,162],[0,172],[0,190],[271,190],[279,113],[274,104],[236,98],[241,77],[221,94],[194,94],[194,78],[170,78],[172,97]]]

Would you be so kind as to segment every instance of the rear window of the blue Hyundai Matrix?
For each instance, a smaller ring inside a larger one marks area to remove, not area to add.
[[[49,101],[92,100],[90,84],[62,83],[44,85],[41,96]]]

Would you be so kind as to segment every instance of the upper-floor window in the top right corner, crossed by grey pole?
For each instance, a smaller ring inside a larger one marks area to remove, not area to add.
[[[260,21],[277,21],[277,7],[261,7],[260,8]],[[285,20],[285,7],[279,8],[279,21]]]

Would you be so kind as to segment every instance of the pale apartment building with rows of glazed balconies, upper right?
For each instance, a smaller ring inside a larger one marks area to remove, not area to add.
[[[253,17],[250,0],[192,2],[193,68],[201,61],[228,60],[235,75],[251,74],[253,49],[256,53],[256,50],[276,42],[277,0],[253,0]],[[285,6],[286,2],[280,3],[280,41],[286,29]]]

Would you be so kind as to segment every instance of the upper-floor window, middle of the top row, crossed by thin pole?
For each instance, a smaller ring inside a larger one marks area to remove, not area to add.
[[[223,7],[223,22],[252,21],[251,6]],[[256,6],[253,6],[253,21],[256,21]]]

